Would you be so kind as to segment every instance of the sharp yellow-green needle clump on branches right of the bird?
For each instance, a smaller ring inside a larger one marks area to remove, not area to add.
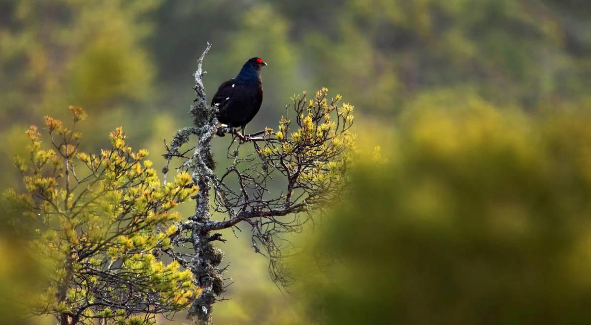
[[[290,182],[296,178],[294,187],[311,193],[310,202],[328,199],[342,190],[346,167],[355,152],[356,136],[349,131],[353,106],[339,106],[342,96],[329,99],[328,91],[326,87],[318,90],[309,101],[305,92],[294,95],[295,125],[282,116],[277,132],[265,128],[271,141],[257,147],[264,161],[280,168]]]

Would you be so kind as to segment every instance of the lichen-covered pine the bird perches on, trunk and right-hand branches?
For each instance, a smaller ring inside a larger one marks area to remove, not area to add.
[[[355,135],[349,131],[353,106],[338,106],[341,96],[329,99],[326,88],[311,100],[306,100],[305,92],[294,96],[293,116],[281,118],[277,131],[265,128],[245,135],[218,127],[216,108],[207,105],[202,82],[203,57],[208,50],[209,44],[195,73],[197,98],[190,110],[194,126],[178,131],[170,145],[164,142],[167,164],[163,170],[166,174],[171,159],[178,158],[182,161],[178,170],[189,171],[199,186],[194,215],[179,223],[177,232],[171,235],[173,245],[193,252],[176,249],[167,253],[191,269],[203,289],[189,311],[202,323],[210,323],[212,304],[225,290],[221,274],[226,268],[217,268],[223,254],[211,244],[225,239],[222,233],[210,232],[248,224],[255,252],[269,258],[272,280],[287,287],[290,278],[281,267],[281,258],[293,245],[285,233],[299,232],[304,223],[322,213],[324,205],[338,199],[348,184],[345,171],[355,150]],[[216,174],[211,141],[218,132],[233,138],[226,155],[229,167]],[[181,152],[181,146],[191,135],[198,141],[193,154],[188,155],[189,151]],[[212,220],[212,212],[222,215],[223,220]]]

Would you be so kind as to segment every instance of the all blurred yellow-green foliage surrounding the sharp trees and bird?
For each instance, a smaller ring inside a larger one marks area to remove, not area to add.
[[[249,57],[269,64],[250,131],[326,86],[355,105],[363,161],[345,206],[298,236],[293,295],[248,230],[225,235],[217,324],[588,323],[591,2],[0,0],[2,189],[22,186],[28,125],[68,105],[89,113],[84,150],[123,126],[161,167],[206,41],[210,97]],[[18,323],[39,270],[8,219],[0,314]]]

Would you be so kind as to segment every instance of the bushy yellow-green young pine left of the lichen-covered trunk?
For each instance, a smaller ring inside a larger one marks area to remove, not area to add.
[[[177,262],[158,261],[155,253],[170,248],[168,236],[177,230],[172,223],[180,219],[173,209],[197,187],[186,173],[160,184],[144,160],[148,152],[128,147],[121,128],[111,133],[111,148],[80,151],[76,126],[86,114],[70,110],[72,128],[46,117],[53,148],[42,149],[40,130],[28,129],[30,155],[15,159],[26,191],[4,193],[22,217],[38,222],[30,250],[52,270],[34,313],[72,320],[187,306],[199,294],[193,275]]]

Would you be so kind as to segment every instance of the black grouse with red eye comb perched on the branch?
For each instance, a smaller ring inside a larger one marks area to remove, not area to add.
[[[223,82],[213,95],[217,121],[230,128],[242,128],[255,117],[262,103],[261,68],[267,63],[259,57],[249,58],[235,78]],[[222,132],[217,135],[223,137]]]

